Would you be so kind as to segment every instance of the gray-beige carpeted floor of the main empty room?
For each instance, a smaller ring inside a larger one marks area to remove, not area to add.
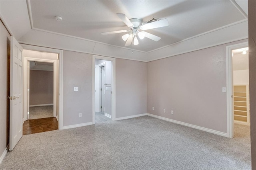
[[[251,169],[250,136],[234,139],[149,116],[25,135],[0,169]]]

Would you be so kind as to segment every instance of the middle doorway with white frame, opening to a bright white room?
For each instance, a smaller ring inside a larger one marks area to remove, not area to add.
[[[92,123],[115,120],[115,59],[93,55]]]

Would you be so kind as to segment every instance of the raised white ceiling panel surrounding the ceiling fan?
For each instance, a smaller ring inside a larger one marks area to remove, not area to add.
[[[242,5],[238,6],[236,2]],[[139,45],[128,46],[130,49],[149,52],[247,20],[244,2],[245,0],[28,0],[28,9],[31,10],[33,29],[122,48],[125,42],[121,36],[125,33],[101,34],[128,30],[116,13],[123,13],[129,19],[139,18],[144,22],[152,17],[167,18],[169,26],[148,30],[149,33],[162,37],[160,41],[144,38],[139,39]],[[56,21],[55,16],[61,16],[63,21]]]

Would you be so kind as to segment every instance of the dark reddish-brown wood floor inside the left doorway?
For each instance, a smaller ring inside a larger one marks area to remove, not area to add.
[[[53,131],[57,129],[58,129],[58,121],[56,117],[31,119],[31,120],[24,121],[23,123],[23,135]]]

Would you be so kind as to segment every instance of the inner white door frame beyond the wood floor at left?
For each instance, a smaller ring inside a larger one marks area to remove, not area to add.
[[[28,84],[30,84],[30,76],[28,74],[28,71],[30,70],[30,68],[28,68],[28,62],[30,61],[53,63],[53,117],[56,117],[57,116],[57,60],[24,57],[24,65],[23,65],[24,66],[24,103],[26,102],[26,108],[24,108],[24,119],[28,120],[30,96],[28,95],[28,91],[26,91],[26,89],[28,89]],[[57,120],[58,120],[58,117],[57,117]]]

